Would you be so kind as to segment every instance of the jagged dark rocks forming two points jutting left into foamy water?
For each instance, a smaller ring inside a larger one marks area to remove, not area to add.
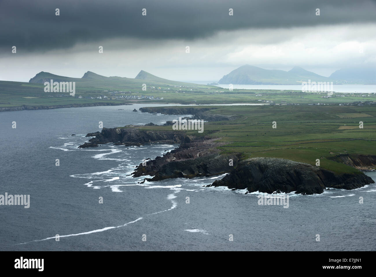
[[[146,165],[140,163],[133,177],[153,176],[152,181],[168,178],[194,178],[230,172],[240,159],[240,154],[221,155],[216,148],[223,143],[210,137],[195,137],[181,131],[156,131],[139,128],[103,128],[101,132],[89,133],[93,137],[79,148],[97,147],[113,142],[115,145],[143,145],[145,143],[180,143],[179,148],[163,157],[149,157]],[[151,160],[151,158],[154,158]],[[232,165],[230,166],[230,159]]]

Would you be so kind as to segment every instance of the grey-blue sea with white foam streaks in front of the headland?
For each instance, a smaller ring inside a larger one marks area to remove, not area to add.
[[[204,187],[223,175],[144,184],[129,176],[177,145],[77,149],[99,121],[178,117],[132,112],[147,106],[156,104],[0,113],[0,194],[30,195],[28,209],[0,206],[0,250],[376,250],[375,184],[290,193],[285,209],[258,205],[259,193]]]

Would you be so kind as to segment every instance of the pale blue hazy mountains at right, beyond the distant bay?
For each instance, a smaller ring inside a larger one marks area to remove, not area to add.
[[[375,68],[347,68],[337,70],[329,77],[324,77],[298,66],[284,71],[243,65],[224,75],[218,84],[297,85],[301,82],[308,82],[309,79],[315,82],[340,84],[374,84],[376,83],[376,70]]]

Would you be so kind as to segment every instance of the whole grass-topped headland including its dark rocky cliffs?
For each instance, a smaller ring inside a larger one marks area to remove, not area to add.
[[[149,157],[134,177],[150,181],[194,178],[229,172],[214,186],[302,194],[326,187],[355,189],[373,183],[358,168],[376,167],[376,109],[330,106],[149,107],[143,112],[194,114],[208,120],[204,131],[164,126],[103,128],[79,148],[146,143],[180,143],[179,148]],[[359,121],[363,128],[359,128]],[[274,124],[273,124],[274,123]],[[273,128],[273,125],[276,128]],[[262,158],[261,158],[262,157]],[[255,160],[255,158],[258,158]],[[318,161],[320,164],[318,164]]]

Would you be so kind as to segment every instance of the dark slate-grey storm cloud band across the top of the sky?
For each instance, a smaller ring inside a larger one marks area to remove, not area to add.
[[[141,15],[142,8],[147,9],[146,16]],[[315,15],[316,8],[320,16]],[[112,38],[195,39],[221,30],[374,22],[375,14],[376,3],[371,0],[4,0],[0,47],[15,45],[20,53]]]

